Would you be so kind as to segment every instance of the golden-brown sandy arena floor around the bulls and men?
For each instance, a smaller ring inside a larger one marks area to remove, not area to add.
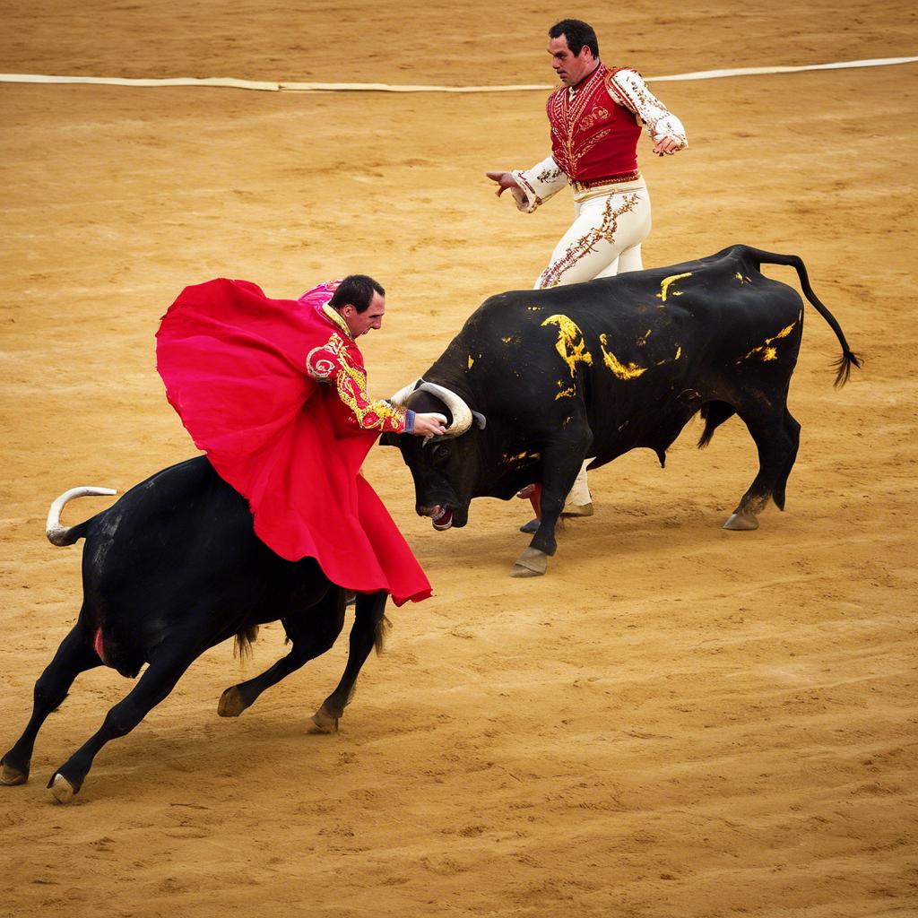
[[[0,4],[0,70],[553,80],[554,14],[530,5],[79,6]],[[570,14],[597,27],[604,60],[647,76],[918,48],[903,0],[736,8]],[[50,773],[129,690],[86,674],[39,737],[31,782],[0,789],[0,916],[918,913],[916,77],[655,86],[691,147],[662,161],[642,141],[645,264],[733,242],[800,254],[867,358],[835,391],[837,343],[808,312],[786,513],[720,529],[753,443],[733,420],[698,452],[696,421],[666,471],[643,451],[592,476],[597,515],[566,527],[547,577],[513,580],[526,506],[479,501],[467,529],[433,532],[397,453],[375,450],[366,474],[435,597],[390,612],[341,733],[306,726],[343,640],[239,720],[217,717],[222,689],[284,653],[275,624],[250,662],[229,644],[205,655],[54,806]],[[229,275],[284,297],[374,274],[389,312],[364,353],[372,391],[395,391],[484,297],[531,285],[567,226],[566,193],[526,217],[483,175],[545,154],[544,95],[0,86],[2,749],[79,608],[81,548],[46,542],[51,498],[124,490],[195,453],[154,369],[178,291]]]

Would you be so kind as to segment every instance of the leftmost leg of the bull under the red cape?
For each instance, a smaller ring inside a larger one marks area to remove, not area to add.
[[[54,659],[35,683],[32,716],[16,745],[0,760],[0,784],[25,784],[28,781],[32,750],[35,748],[35,738],[39,734],[41,724],[51,711],[60,707],[73,685],[73,680],[80,673],[102,665],[93,647],[92,632],[84,627],[82,621],[81,616],[71,633],[63,639]]]

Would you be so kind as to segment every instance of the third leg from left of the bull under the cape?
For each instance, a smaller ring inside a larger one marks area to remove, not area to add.
[[[293,642],[290,653],[261,676],[223,692],[217,706],[220,717],[239,717],[265,689],[270,689],[309,660],[330,650],[344,626],[344,599],[344,590],[333,587],[317,606],[297,617],[284,619],[287,637]]]

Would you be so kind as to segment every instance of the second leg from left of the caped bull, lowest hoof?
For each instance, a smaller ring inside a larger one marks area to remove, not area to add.
[[[102,727],[51,776],[48,787],[59,803],[69,803],[83,786],[93,759],[109,740],[130,733],[175,688],[200,654],[192,635],[174,635],[161,644],[137,685],[106,714]]]

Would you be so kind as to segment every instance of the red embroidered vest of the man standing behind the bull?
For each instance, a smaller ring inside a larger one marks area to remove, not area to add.
[[[586,182],[637,171],[641,126],[633,114],[612,100],[612,74],[604,64],[577,86],[571,99],[567,86],[548,97],[545,110],[552,129],[552,156],[570,181]]]

